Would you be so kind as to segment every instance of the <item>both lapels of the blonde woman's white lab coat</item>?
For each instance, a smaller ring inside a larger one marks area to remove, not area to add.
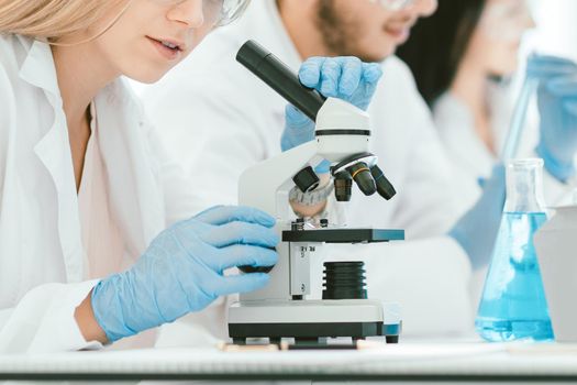
[[[25,51],[19,76],[42,89],[54,110],[54,121],[34,146],[49,173],[57,195],[57,227],[68,283],[84,279],[84,251],[66,116],[48,44],[18,36]],[[129,87],[118,79],[95,98],[100,151],[108,174],[110,200],[132,255],[140,255],[164,229],[163,194],[158,177],[147,167],[151,151],[142,108]],[[138,128],[141,130],[138,130]]]

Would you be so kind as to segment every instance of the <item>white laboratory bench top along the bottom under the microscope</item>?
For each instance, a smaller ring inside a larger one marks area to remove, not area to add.
[[[215,346],[0,355],[0,381],[577,383],[577,345],[400,343],[366,350]]]

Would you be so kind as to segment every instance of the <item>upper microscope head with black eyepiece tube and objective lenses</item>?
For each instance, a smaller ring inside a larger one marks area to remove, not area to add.
[[[370,119],[366,111],[341,99],[324,98],[317,90],[302,86],[290,68],[254,41],[241,47],[236,59],[317,124],[315,147],[312,148],[310,142],[299,146],[312,154],[292,148],[288,152],[291,154],[285,153],[286,161],[276,164],[290,170],[289,164],[307,163],[291,176],[302,193],[319,186],[319,177],[309,162],[322,158],[331,163],[337,201],[351,200],[353,182],[367,196],[378,193],[389,200],[396,195],[393,186],[377,166],[377,156],[369,152]],[[288,161],[291,156],[293,158]],[[302,156],[308,158],[302,160]]]

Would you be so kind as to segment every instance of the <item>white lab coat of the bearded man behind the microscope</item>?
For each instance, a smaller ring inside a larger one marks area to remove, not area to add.
[[[276,2],[253,1],[238,23],[210,35],[143,92],[146,112],[162,129],[167,147],[190,179],[202,186],[191,187],[199,208],[236,204],[243,170],[280,152],[286,102],[235,62],[247,38],[298,69],[301,61]],[[421,241],[353,252],[336,248],[329,254],[366,257],[369,296],[401,304],[406,334],[463,333],[471,326],[466,294],[470,267],[453,240],[439,237],[456,218],[450,167],[408,68],[397,57],[382,68],[370,108],[373,151],[398,196],[385,201],[355,191],[346,206],[347,224],[401,228],[408,240]],[[313,278],[321,275],[317,266]],[[315,287],[320,292],[320,283]]]

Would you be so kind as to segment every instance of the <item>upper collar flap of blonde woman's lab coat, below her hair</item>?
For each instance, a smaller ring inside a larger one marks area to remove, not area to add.
[[[56,66],[47,43],[34,41],[30,37],[18,36],[21,44],[29,48],[27,55],[20,67],[19,76],[32,86],[42,88],[56,99],[60,99]],[[51,98],[55,100],[54,98]]]

